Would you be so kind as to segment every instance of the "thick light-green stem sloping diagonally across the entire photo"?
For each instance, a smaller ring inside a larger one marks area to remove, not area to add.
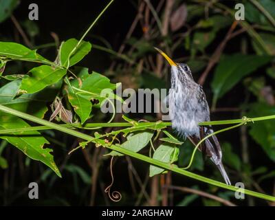
[[[67,133],[69,135],[73,135],[75,137],[79,137],[79,138],[82,138],[83,140],[87,140],[87,141],[90,141],[90,142],[93,142],[93,140],[95,139],[94,137],[91,137],[85,133],[80,133],[79,131],[74,131],[72,129],[68,129],[67,127],[65,126],[60,126],[58,124],[54,124],[53,122],[48,122],[47,120],[43,120],[41,118],[36,118],[34,117],[33,115],[29,115],[28,113],[23,113],[21,111],[17,111],[17,110],[14,110],[14,109],[10,109],[9,107],[5,107],[3,105],[0,104],[0,111],[3,111],[5,113],[9,113],[11,115],[15,115],[15,116],[18,116],[19,118],[23,118],[25,120],[30,120],[32,122],[36,122],[38,124],[43,124],[44,126],[49,126],[50,128],[52,129],[56,129],[57,131],[62,131],[64,133]],[[274,118],[275,118],[275,115],[274,115]],[[243,122],[243,120],[242,120]],[[127,150],[126,148],[122,148],[118,145],[104,145],[104,147],[107,147],[113,151],[117,151],[119,153],[122,153],[124,155],[129,155],[131,157],[135,157],[136,159],[140,159],[144,162],[147,162],[149,164],[153,164],[155,166],[159,166],[161,168],[164,168],[166,170],[171,170],[173,171],[174,173],[179,173],[180,175],[185,175],[187,177],[190,177],[192,179],[197,179],[199,181],[203,181],[207,184],[212,184],[214,186],[219,186],[221,188],[225,188],[225,189],[228,189],[228,190],[232,190],[232,191],[238,191],[240,190],[240,188],[238,187],[235,187],[235,186],[228,186],[226,184],[223,184],[219,181],[215,181],[213,179],[209,179],[207,177],[202,177],[200,175],[197,175],[195,173],[191,173],[187,170],[183,170],[182,168],[178,168],[177,166],[173,165],[173,164],[168,164],[168,163],[164,163],[164,162],[161,162],[157,159],[153,159],[151,157],[147,157],[145,155],[142,155],[140,153],[135,153],[133,151],[129,151]],[[275,197],[272,197],[270,195],[265,195],[263,193],[260,193],[260,192],[254,192],[252,190],[246,190],[244,189],[243,192],[246,194],[246,195],[251,195],[251,196],[254,196],[254,197],[259,197],[261,199],[266,199],[266,200],[269,200],[269,201],[275,201]]]

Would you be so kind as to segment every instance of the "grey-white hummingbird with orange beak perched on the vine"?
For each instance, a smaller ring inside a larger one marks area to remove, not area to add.
[[[195,146],[203,137],[212,134],[211,126],[199,126],[199,122],[210,121],[210,111],[206,94],[201,85],[192,77],[192,72],[185,63],[175,63],[167,54],[155,47],[171,66],[171,89],[166,102],[169,106],[169,116],[172,128],[187,137]],[[230,179],[223,167],[222,151],[216,135],[212,135],[199,146],[199,150],[210,157],[217,166],[226,184],[231,185]]]

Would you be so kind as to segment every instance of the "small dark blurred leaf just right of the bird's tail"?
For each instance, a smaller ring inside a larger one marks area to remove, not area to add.
[[[223,162],[225,164],[228,164],[229,166],[232,166],[236,170],[241,170],[241,159],[236,153],[232,152],[232,147],[230,143],[223,143],[221,146],[223,149]]]

